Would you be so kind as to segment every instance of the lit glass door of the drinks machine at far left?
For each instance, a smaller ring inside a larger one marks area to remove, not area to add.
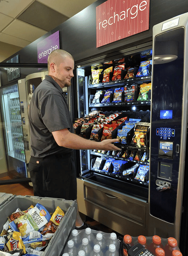
[[[23,127],[18,84],[0,88],[2,120],[5,124],[5,146],[8,174],[12,178],[27,178]]]

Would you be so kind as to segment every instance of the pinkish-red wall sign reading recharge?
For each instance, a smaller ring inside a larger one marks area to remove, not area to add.
[[[148,30],[149,10],[149,0],[108,0],[97,6],[97,47]]]

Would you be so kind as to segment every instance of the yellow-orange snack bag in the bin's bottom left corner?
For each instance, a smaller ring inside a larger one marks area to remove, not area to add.
[[[23,252],[26,253],[26,247],[23,244],[20,232],[14,232],[12,238],[9,239],[8,243],[6,243],[4,247],[4,251],[6,252],[14,251],[17,249],[23,249]]]

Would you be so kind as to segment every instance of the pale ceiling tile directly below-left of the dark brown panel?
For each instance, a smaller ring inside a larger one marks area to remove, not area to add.
[[[45,30],[36,28],[20,20],[14,20],[2,32],[30,42],[35,41],[36,39],[47,33],[47,31]]]

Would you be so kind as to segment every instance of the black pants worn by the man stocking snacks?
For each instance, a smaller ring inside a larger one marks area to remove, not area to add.
[[[35,196],[77,199],[76,169],[71,154],[31,156],[29,172]]]

